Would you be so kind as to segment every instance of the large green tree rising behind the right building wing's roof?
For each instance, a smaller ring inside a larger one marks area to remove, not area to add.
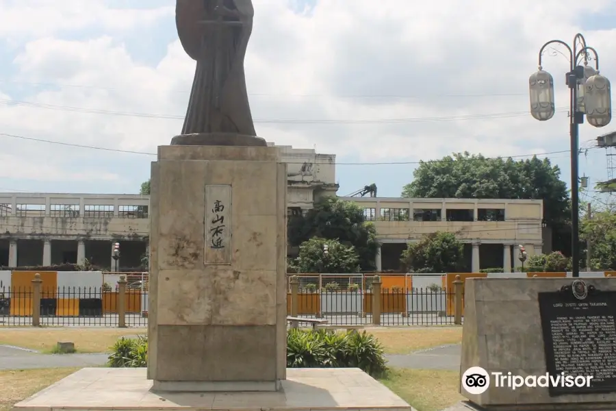
[[[485,158],[468,152],[420,162],[402,197],[542,199],[543,220],[552,228],[555,249],[569,253],[571,201],[558,166],[536,156],[528,160]]]

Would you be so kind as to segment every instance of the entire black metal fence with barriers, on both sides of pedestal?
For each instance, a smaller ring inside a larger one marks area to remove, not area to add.
[[[0,288],[0,326],[148,324],[149,296],[143,282],[131,287],[124,277],[117,288],[108,284],[99,288],[44,288],[37,275],[29,287]],[[457,276],[450,286],[441,287],[437,285],[445,283],[441,279],[441,275],[421,281],[408,276],[292,276],[287,290],[287,316],[323,320],[331,326],[459,325],[463,282]],[[417,288],[417,284],[430,286]]]

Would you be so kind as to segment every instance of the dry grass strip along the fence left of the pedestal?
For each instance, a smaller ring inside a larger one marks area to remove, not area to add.
[[[0,344],[52,353],[58,342],[75,343],[78,353],[106,353],[121,336],[147,334],[145,328],[3,328]]]

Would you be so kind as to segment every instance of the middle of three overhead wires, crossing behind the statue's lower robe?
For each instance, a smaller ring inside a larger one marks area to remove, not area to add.
[[[151,114],[151,113],[139,113],[139,112],[120,112],[114,110],[101,110],[94,108],[81,108],[72,107],[69,105],[53,105],[44,103],[34,103],[31,101],[17,101],[0,99],[1,104],[5,105],[19,105],[29,108],[40,108],[44,110],[60,110],[68,112],[80,112],[85,114],[103,114],[110,116],[127,116],[127,117],[141,117],[145,119],[166,119],[166,120],[182,120],[184,116],[175,114]],[[567,108],[557,108],[556,112],[566,112]],[[398,119],[363,119],[363,120],[351,120],[351,119],[255,119],[255,123],[261,124],[387,124],[387,123],[439,123],[442,121],[470,121],[470,120],[489,120],[489,119],[508,119],[511,117],[528,116],[530,112],[500,112],[500,113],[488,113],[488,114],[467,114],[459,116],[437,116],[437,117],[407,117]]]

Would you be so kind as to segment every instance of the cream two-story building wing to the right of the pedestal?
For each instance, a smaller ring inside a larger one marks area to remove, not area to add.
[[[528,255],[543,247],[542,200],[357,198],[366,220],[374,221],[381,252],[378,271],[398,269],[409,242],[437,231],[454,232],[464,243],[465,271],[520,266],[519,245]]]

